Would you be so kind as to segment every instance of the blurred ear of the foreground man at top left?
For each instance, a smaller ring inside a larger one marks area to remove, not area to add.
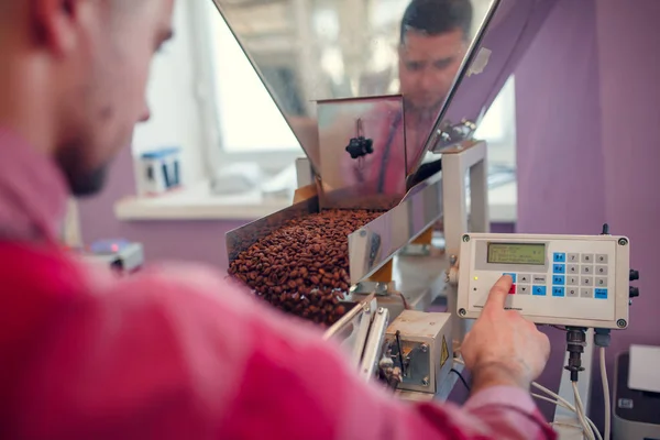
[[[78,44],[79,21],[85,0],[31,0],[32,23],[37,43],[56,56],[65,56]]]

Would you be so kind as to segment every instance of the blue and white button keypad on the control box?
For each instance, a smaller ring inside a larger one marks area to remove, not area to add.
[[[551,274],[505,273],[510,295],[607,299],[606,254],[552,253]]]

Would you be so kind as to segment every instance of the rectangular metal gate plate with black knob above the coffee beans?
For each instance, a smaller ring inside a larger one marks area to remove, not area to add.
[[[321,209],[386,210],[406,193],[403,98],[318,102]]]

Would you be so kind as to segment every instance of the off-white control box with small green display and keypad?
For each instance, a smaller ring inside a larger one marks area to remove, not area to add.
[[[613,235],[470,233],[462,238],[458,314],[476,318],[502,275],[506,308],[537,323],[628,326],[629,241]]]

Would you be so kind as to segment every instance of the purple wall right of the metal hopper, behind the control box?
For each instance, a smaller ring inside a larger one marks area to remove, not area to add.
[[[631,265],[641,272],[630,327],[613,334],[610,378],[614,356],[630,343],[660,344],[651,284],[660,246],[659,14],[656,0],[562,0],[516,72],[518,231],[598,233],[608,222],[630,238]],[[561,348],[563,334],[552,333]],[[551,388],[562,364],[554,351],[541,378]]]

